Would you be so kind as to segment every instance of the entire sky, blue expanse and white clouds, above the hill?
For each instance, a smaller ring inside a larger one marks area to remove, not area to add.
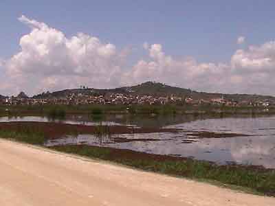
[[[148,80],[275,95],[275,1],[0,3],[0,94]]]

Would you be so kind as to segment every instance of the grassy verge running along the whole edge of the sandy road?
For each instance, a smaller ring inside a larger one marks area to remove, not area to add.
[[[0,137],[1,139],[3,137]],[[4,138],[19,143],[27,143],[24,139]],[[34,146],[34,144],[29,144]],[[79,157],[118,163],[126,167],[177,176],[196,181],[210,182],[241,192],[264,196],[275,196],[275,170],[255,165],[216,165],[210,161],[199,161],[185,157],[168,155],[153,155],[133,150],[120,150],[97,146],[53,146],[44,147],[36,144],[35,147],[44,148],[53,152],[77,155]],[[273,180],[273,181],[272,181]]]

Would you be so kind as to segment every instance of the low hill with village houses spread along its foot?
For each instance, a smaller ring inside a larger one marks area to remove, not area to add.
[[[270,106],[275,98],[261,95],[226,95],[199,93],[190,89],[170,87],[155,82],[145,82],[133,87],[118,89],[67,89],[54,93],[41,93],[29,98],[21,92],[17,97],[0,98],[0,104],[43,105],[43,104],[177,104],[177,105],[225,105],[225,106]]]

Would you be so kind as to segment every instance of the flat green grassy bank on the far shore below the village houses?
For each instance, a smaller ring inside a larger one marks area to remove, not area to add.
[[[50,117],[64,117],[67,114],[124,114],[133,115],[184,115],[184,114],[208,114],[208,115],[234,115],[234,114],[275,114],[275,107],[268,110],[263,106],[219,106],[188,104],[177,105],[0,105],[0,115],[45,115]]]

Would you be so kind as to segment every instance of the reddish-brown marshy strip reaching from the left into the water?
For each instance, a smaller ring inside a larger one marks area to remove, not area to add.
[[[133,126],[87,126],[82,124],[63,124],[56,122],[3,122],[0,123],[0,130],[12,130],[17,132],[39,132],[43,133],[47,139],[58,139],[65,135],[78,135],[78,134],[96,134],[103,133],[113,134],[138,134],[138,133],[180,133],[188,132],[186,136],[193,136],[199,139],[201,138],[227,138],[227,137],[242,137],[249,136],[245,134],[236,133],[212,133],[212,132],[198,132],[198,131],[187,131],[177,128],[136,128]],[[103,134],[104,135],[104,134]],[[146,141],[148,139],[144,139]],[[118,139],[123,141],[123,139]],[[136,141],[136,140],[135,140]],[[149,140],[148,140],[149,141]],[[153,140],[157,141],[157,139]]]

